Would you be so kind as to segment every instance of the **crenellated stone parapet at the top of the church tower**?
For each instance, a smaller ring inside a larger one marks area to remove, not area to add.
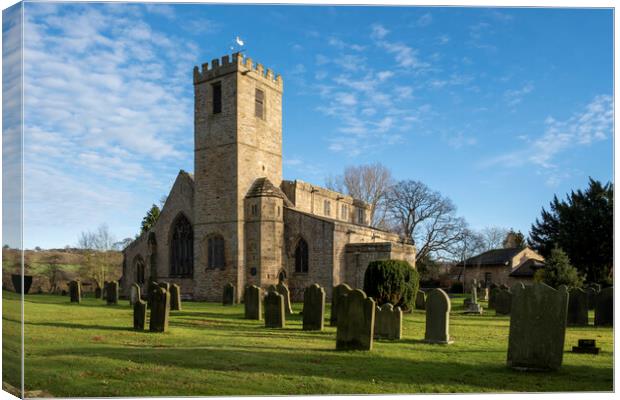
[[[270,85],[282,90],[283,80],[281,75],[276,75],[270,68],[265,68],[262,64],[254,62],[250,57],[245,57],[241,53],[233,53],[232,57],[225,55],[221,59],[211,60],[211,63],[202,64],[201,68],[194,67],[194,84],[197,85],[219,76],[239,71],[251,74],[256,79],[261,79]]]

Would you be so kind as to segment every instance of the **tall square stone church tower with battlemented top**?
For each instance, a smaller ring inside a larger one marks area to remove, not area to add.
[[[273,254],[281,244],[265,249],[259,236],[282,236],[282,199],[259,196],[260,188],[245,198],[257,178],[282,181],[282,89],[281,77],[239,54],[194,69],[194,278],[206,282],[198,292],[243,287],[259,273],[263,250],[281,262]],[[209,240],[220,239],[223,259],[209,258]]]

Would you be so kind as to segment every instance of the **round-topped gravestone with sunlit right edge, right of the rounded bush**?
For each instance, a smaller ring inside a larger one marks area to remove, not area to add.
[[[441,289],[433,289],[426,295],[427,343],[450,344],[450,298]]]

